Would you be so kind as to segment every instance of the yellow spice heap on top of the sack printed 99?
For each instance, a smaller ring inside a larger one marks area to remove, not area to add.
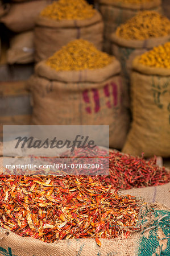
[[[103,68],[109,65],[113,59],[113,56],[98,51],[92,43],[76,39],[49,57],[46,64],[56,71],[79,71]]]

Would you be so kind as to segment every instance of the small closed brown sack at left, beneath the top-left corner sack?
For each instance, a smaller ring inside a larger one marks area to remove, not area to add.
[[[27,64],[34,62],[34,32],[14,36],[7,51],[7,63]]]

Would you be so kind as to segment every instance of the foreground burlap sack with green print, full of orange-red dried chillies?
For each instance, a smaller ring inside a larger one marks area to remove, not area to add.
[[[5,255],[168,255],[165,205],[120,196],[91,177],[1,175],[0,186]]]

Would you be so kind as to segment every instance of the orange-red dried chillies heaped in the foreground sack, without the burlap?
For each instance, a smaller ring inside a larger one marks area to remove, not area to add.
[[[92,177],[0,176],[0,225],[44,242],[127,237],[143,205]]]

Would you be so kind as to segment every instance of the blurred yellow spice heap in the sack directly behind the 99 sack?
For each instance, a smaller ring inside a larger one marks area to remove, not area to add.
[[[85,0],[59,0],[45,7],[40,15],[55,20],[71,20],[92,18],[95,12]]]

